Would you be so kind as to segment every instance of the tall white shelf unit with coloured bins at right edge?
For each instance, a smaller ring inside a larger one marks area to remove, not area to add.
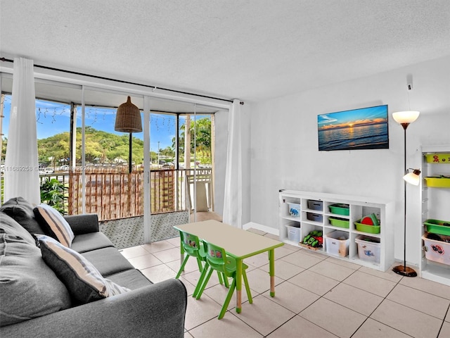
[[[425,256],[425,240],[424,235],[427,234],[427,227],[424,224],[426,220],[445,220],[450,223],[450,186],[444,182],[440,183],[438,178],[432,179],[432,184],[429,177],[450,177],[450,145],[444,146],[422,146],[422,177],[420,187],[420,202],[422,206],[422,232],[420,237],[420,248],[422,249],[422,256],[419,263],[420,276],[450,285],[450,244],[442,242],[440,244],[444,251],[439,255],[439,250],[428,259]],[[437,157],[436,157],[437,155]],[[437,184],[436,184],[437,182]],[[432,187],[431,187],[432,185]],[[436,186],[437,185],[437,186]],[[436,243],[436,242],[433,242]],[[446,263],[440,263],[445,261]]]

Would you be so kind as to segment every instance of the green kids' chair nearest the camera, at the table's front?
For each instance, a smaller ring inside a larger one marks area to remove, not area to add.
[[[220,246],[211,244],[205,240],[203,240],[203,246],[206,251],[206,263],[209,265],[208,268],[204,269],[202,272],[202,276],[200,276],[199,284],[201,281],[201,286],[198,289],[198,292],[194,295],[196,299],[200,299],[200,296],[203,294],[203,290],[205,290],[206,284],[212,275],[212,271],[216,270],[218,273],[223,273],[226,277],[232,277],[233,282],[231,282],[231,286],[229,288],[228,294],[226,294],[226,299],[224,301],[224,305],[221,308],[219,313],[219,318],[224,318],[226,313],[226,309],[229,306],[231,296],[233,296],[234,289],[236,289],[236,259],[231,256],[226,256],[226,252]],[[245,284],[245,290],[247,291],[248,302],[253,303],[252,294],[250,292],[250,287],[248,286],[247,270],[248,265],[242,263],[242,277]]]

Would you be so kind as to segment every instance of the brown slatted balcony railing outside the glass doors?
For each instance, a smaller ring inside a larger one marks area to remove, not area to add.
[[[196,169],[198,175],[211,174],[211,168]],[[150,171],[150,212],[170,213],[186,210],[186,175],[193,169]],[[115,220],[143,215],[143,171],[112,168],[92,168],[82,172],[43,174],[68,186],[67,213],[77,215],[82,210],[82,187],[85,189],[84,213],[96,213],[99,220]]]

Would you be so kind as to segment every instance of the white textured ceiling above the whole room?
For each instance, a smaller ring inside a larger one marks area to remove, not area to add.
[[[448,55],[449,0],[0,0],[0,56],[226,99]]]

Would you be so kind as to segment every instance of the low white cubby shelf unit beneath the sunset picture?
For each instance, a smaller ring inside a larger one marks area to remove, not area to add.
[[[280,190],[278,199],[278,227],[282,242],[302,246],[301,242],[309,232],[319,230],[323,232],[324,239],[321,248],[314,248],[316,252],[380,271],[387,270],[394,263],[392,202],[363,196],[302,192],[297,190]],[[298,214],[294,213],[297,217],[293,217],[292,213],[290,213],[292,205],[298,206],[300,209]],[[330,208],[330,206],[337,206],[338,208]],[[340,206],[344,207],[344,209],[345,207],[348,208],[348,215],[341,213]],[[380,220],[380,232],[369,233],[356,230],[354,223],[371,213],[375,213],[378,220]],[[331,223],[334,223],[334,225]],[[290,240],[289,231],[292,227],[297,228],[297,231],[300,232],[299,242]],[[332,251],[326,248],[328,241],[325,238],[335,230],[343,232],[349,239],[347,256],[335,256],[331,253]],[[366,259],[365,256],[364,259],[359,258],[359,245],[356,241],[361,238],[361,235],[379,243],[380,252],[377,261],[373,261],[370,258]]]

